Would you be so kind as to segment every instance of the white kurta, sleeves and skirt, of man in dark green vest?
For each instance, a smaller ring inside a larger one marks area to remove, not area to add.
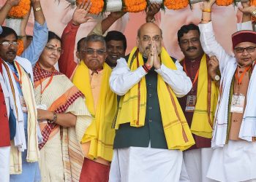
[[[177,97],[182,97],[191,90],[192,82],[176,61],[177,70],[167,68],[162,64],[155,70],[162,79],[170,85]],[[117,60],[110,76],[110,88],[118,95],[125,95],[140,82],[146,71],[140,66],[130,71],[126,60]],[[114,149],[110,167],[110,182],[177,182],[181,173],[182,151],[153,149],[143,147],[129,147]]]

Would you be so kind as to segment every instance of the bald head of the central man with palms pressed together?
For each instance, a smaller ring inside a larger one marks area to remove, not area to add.
[[[152,42],[157,46],[157,53],[160,54],[162,48],[162,30],[155,23],[144,23],[138,29],[137,47],[140,53],[148,58]]]

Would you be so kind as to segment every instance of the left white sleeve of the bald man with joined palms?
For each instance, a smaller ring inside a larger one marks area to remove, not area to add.
[[[110,76],[110,88],[117,95],[126,94],[135,84],[140,82],[140,79],[146,75],[146,71],[142,66],[135,71],[131,71],[127,66],[127,62],[124,58],[117,60],[116,68]]]

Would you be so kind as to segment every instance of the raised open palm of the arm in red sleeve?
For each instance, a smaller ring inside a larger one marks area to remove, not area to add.
[[[88,17],[89,10],[91,9],[91,1],[83,1],[81,4],[78,4],[78,7],[75,9],[75,12],[72,17],[72,23],[74,25],[80,25],[86,23],[91,17]]]

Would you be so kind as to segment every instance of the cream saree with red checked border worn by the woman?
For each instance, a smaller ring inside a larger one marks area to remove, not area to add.
[[[41,95],[41,89],[45,86],[47,87]],[[84,156],[80,141],[91,124],[91,114],[86,108],[83,94],[67,76],[58,71],[42,70],[38,66],[34,68],[34,87],[37,105],[45,104],[48,111],[77,116],[75,127],[39,123],[44,137],[44,142],[40,144],[42,157],[39,162],[44,175],[42,181],[79,181]],[[58,169],[53,170],[52,166],[55,164]]]

